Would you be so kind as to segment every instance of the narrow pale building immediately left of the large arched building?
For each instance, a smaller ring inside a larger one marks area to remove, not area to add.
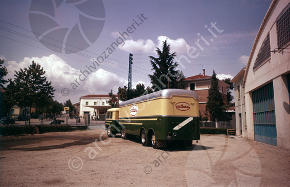
[[[246,68],[243,68],[231,82],[234,83],[235,92],[235,111],[236,111],[236,134],[237,136],[242,136],[244,130],[247,130],[246,122],[246,104],[244,100],[244,86],[243,77]]]

